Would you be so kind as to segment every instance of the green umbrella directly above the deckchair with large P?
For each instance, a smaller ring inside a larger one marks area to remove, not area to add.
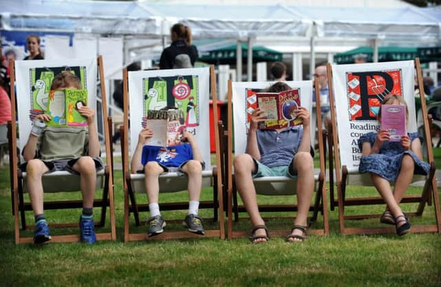
[[[338,53],[334,55],[334,62],[338,64],[351,64],[353,63],[354,56],[357,54],[365,54],[367,56],[367,62],[373,62],[373,47],[368,46],[362,46],[347,52]],[[416,47],[378,47],[379,62],[413,60],[417,56],[418,51]]]

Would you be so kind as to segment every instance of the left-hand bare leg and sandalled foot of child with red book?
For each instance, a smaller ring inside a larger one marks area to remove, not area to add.
[[[236,188],[242,198],[245,209],[247,209],[249,219],[253,226],[264,225],[262,217],[260,216],[256,189],[254,188],[252,172],[255,169],[254,160],[249,154],[240,154],[234,158],[234,175],[236,177]],[[266,235],[265,229],[258,229],[255,235]],[[264,242],[265,239],[258,239],[256,242]]]

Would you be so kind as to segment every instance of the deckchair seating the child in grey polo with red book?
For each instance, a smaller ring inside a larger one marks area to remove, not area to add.
[[[316,87],[316,110],[320,111],[320,95],[318,89],[318,81],[292,81],[287,84],[293,88],[300,88],[300,103],[302,106],[309,110],[309,113],[313,114],[312,109],[312,94],[313,83]],[[234,171],[232,170],[232,140],[233,140],[233,124],[234,124],[234,154],[238,155],[245,153],[247,145],[247,93],[254,90],[258,91],[269,87],[269,82],[232,82],[228,84],[228,127],[227,127],[227,156],[226,156],[226,174],[228,180],[225,183],[227,185],[227,237],[244,237],[249,235],[245,231],[233,231],[233,219],[232,213],[234,212],[235,220],[238,220],[239,212],[246,212],[245,206],[238,206],[237,204],[237,192],[234,184]],[[234,105],[234,107],[233,107]],[[234,118],[233,118],[234,116]],[[314,138],[316,127],[321,127],[321,115],[320,112],[316,116],[317,123],[311,120],[311,138]],[[310,229],[309,234],[327,235],[329,233],[328,213],[327,213],[327,200],[326,200],[326,187],[325,187],[325,153],[322,141],[322,133],[318,133],[318,145],[320,152],[320,170],[314,175],[316,180],[316,198],[314,204],[310,206],[309,211],[314,211],[314,215],[309,220],[315,221],[318,212],[323,214],[323,228]],[[261,195],[294,195],[296,194],[296,180],[287,178],[285,176],[274,176],[254,179],[254,186],[256,187],[256,193]],[[259,211],[262,212],[292,212],[297,211],[296,204],[259,204]],[[284,231],[270,231],[273,235],[287,235],[287,230]]]

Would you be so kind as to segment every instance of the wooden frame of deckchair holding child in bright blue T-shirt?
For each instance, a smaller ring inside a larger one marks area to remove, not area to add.
[[[210,66],[210,85],[212,91],[213,100],[213,112],[214,118],[218,118],[217,109],[217,94],[216,94],[216,78],[214,76],[214,66]],[[123,159],[123,187],[124,187],[124,242],[130,241],[140,241],[140,240],[167,240],[167,239],[177,239],[177,238],[204,238],[204,237],[220,237],[225,239],[225,225],[224,225],[224,212],[223,212],[223,180],[221,175],[221,169],[213,167],[212,178],[214,180],[213,184],[213,201],[203,201],[199,204],[199,209],[214,209],[213,221],[219,222],[219,228],[214,230],[205,230],[205,235],[197,235],[194,233],[189,233],[188,231],[165,231],[159,235],[153,237],[148,237],[147,233],[130,233],[130,213],[133,213],[136,226],[141,225],[139,220],[139,212],[149,211],[148,204],[137,204],[136,195],[132,190],[132,178],[131,170],[129,164],[129,95],[128,95],[128,73],[127,70],[123,71],[123,94],[124,94],[124,124],[120,128],[121,131],[121,152]],[[214,122],[216,123],[216,122]],[[220,161],[220,147],[219,147],[219,131],[218,125],[214,125],[215,132],[215,145],[216,145],[216,162]],[[132,139],[134,140],[134,139]],[[167,174],[161,175],[161,177],[166,177]],[[161,189],[161,186],[160,186]],[[144,195],[145,196],[145,195]],[[160,209],[166,210],[183,210],[188,208],[188,202],[171,202],[171,203],[160,203]],[[167,222],[181,222],[182,220],[167,220]]]

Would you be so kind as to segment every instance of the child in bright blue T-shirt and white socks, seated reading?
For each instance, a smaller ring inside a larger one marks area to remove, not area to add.
[[[176,109],[165,107],[165,109]],[[165,130],[163,131],[166,132]],[[132,173],[145,173],[145,190],[149,202],[150,219],[148,235],[163,233],[165,221],[159,211],[159,176],[165,172],[185,173],[188,176],[189,209],[183,226],[189,232],[205,233],[201,217],[198,216],[199,198],[202,188],[202,171],[205,163],[193,135],[182,131],[181,145],[159,147],[150,145],[154,133],[148,126],[139,133],[138,144],[132,157]]]

